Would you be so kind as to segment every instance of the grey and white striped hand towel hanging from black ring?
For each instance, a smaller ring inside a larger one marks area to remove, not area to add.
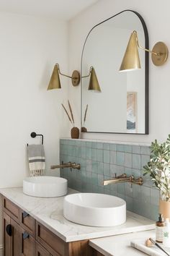
[[[40,176],[45,170],[45,151],[43,145],[27,146],[30,176]]]

